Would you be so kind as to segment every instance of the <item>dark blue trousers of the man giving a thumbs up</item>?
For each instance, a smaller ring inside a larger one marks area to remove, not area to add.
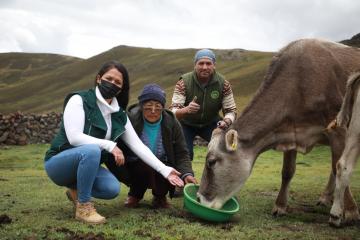
[[[212,131],[216,128],[216,124],[217,124],[217,122],[213,122],[213,123],[211,123],[205,127],[201,127],[201,128],[181,124],[191,160],[193,160],[193,158],[194,158],[194,138],[195,138],[195,136],[200,136],[204,140],[210,142],[211,134],[212,134]]]

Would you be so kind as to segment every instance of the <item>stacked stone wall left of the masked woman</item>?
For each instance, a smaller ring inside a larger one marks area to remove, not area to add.
[[[0,144],[50,143],[59,129],[61,117],[61,113],[0,114]]]

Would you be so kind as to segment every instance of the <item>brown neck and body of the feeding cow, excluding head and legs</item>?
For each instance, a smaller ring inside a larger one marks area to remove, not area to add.
[[[290,43],[273,57],[262,85],[236,121],[240,139],[254,141],[286,119],[296,123],[311,117],[327,124],[340,109],[347,77],[358,69],[359,49],[316,39]]]

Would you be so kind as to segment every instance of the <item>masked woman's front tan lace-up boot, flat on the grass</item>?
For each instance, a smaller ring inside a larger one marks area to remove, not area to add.
[[[92,202],[76,204],[75,219],[90,224],[105,223],[105,217],[96,212],[94,204]]]

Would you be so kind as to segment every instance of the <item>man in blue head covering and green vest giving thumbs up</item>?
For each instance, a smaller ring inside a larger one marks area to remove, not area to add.
[[[213,51],[199,50],[194,63],[194,71],[183,74],[176,83],[170,106],[181,122],[191,159],[195,136],[209,142],[216,127],[226,129],[236,118],[230,83],[215,71]],[[223,118],[219,116],[220,110]]]

